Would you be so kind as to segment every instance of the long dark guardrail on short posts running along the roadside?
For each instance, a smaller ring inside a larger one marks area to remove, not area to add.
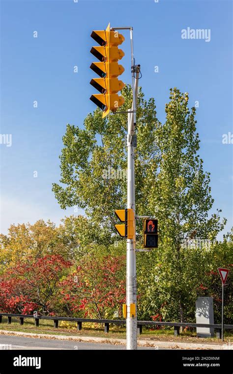
[[[82,323],[100,323],[104,324],[104,332],[109,332],[109,325],[125,325],[126,321],[122,319],[94,319],[94,318],[75,318],[75,317],[59,317],[59,316],[46,316],[38,315],[34,317],[31,314],[12,314],[12,313],[0,313],[0,323],[2,322],[2,317],[7,317],[8,324],[11,324],[11,318],[19,318],[20,325],[24,324],[25,318],[33,318],[35,321],[35,326],[39,326],[40,319],[48,319],[54,321],[54,327],[58,328],[58,321],[71,321],[77,322],[77,330],[82,330]],[[222,325],[221,324],[206,324],[206,323],[186,323],[186,322],[156,322],[156,321],[138,321],[138,334],[142,334],[143,326],[170,326],[174,327],[174,335],[179,335],[180,327],[207,327],[216,330],[216,337],[221,338]],[[233,325],[224,325],[224,329],[233,330]]]

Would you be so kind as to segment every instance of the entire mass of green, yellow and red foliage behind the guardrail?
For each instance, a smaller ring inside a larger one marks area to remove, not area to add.
[[[131,88],[126,86],[122,94],[121,111],[126,111],[132,104]],[[223,243],[215,241],[226,220],[221,221],[221,210],[209,213],[214,201],[210,174],[199,155],[196,110],[189,109],[188,94],[171,89],[165,112],[162,124],[155,100],[146,100],[139,89],[136,214],[158,218],[159,248],[137,253],[138,317],[193,321],[197,297],[212,296],[219,322],[221,282],[216,271],[232,266],[233,236],[226,236]],[[114,311],[121,315],[126,245],[116,234],[114,211],[125,208],[127,201],[126,128],[125,114],[102,119],[99,109],[88,114],[83,126],[67,125],[60,183],[53,184],[53,191],[61,208],[77,206],[86,215],[66,217],[58,227],[43,220],[11,225],[9,234],[0,236],[1,308],[25,312],[36,307],[96,318],[112,318]],[[136,245],[142,248],[141,220],[136,227]],[[199,240],[205,245],[200,246]],[[54,268],[54,291],[49,296],[46,272],[40,268],[47,256],[54,256],[55,263],[62,258],[70,264],[57,273]],[[40,299],[35,294],[37,280],[31,287],[34,276],[43,284]],[[230,321],[232,284],[225,290]]]

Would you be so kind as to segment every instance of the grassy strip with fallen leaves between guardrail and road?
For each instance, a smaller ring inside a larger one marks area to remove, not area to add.
[[[34,320],[32,318],[25,318],[24,325],[19,324],[19,319],[12,317],[11,324],[7,323],[7,317],[2,317],[2,323],[0,323],[0,330],[8,331],[19,331],[33,334],[53,334],[53,335],[66,335],[66,336],[88,336],[88,337],[100,337],[100,338],[118,338],[125,339],[126,331],[125,327],[111,326],[109,333],[106,334],[99,324],[83,323],[81,331],[77,331],[75,322],[58,322],[58,328],[54,327],[54,323],[51,320],[40,320],[39,327],[34,326]],[[225,343],[233,342],[233,333],[225,332]],[[168,328],[162,328],[160,330],[148,329],[143,327],[143,334],[140,339],[150,339],[153,341],[173,341],[173,342],[184,342],[184,343],[221,343],[219,339],[214,338],[197,338],[196,331],[187,330],[181,333],[179,336],[174,336],[174,330]]]

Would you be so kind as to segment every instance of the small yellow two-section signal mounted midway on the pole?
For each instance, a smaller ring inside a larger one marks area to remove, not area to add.
[[[134,239],[135,222],[133,209],[116,210],[115,214],[121,222],[125,222],[124,224],[115,225],[118,234],[127,239]]]

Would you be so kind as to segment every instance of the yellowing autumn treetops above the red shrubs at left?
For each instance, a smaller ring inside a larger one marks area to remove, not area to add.
[[[26,261],[60,254],[73,261],[84,255],[94,245],[103,245],[102,231],[81,215],[65,217],[56,227],[50,220],[39,219],[34,224],[10,225],[8,235],[0,234],[0,274],[7,267]]]

